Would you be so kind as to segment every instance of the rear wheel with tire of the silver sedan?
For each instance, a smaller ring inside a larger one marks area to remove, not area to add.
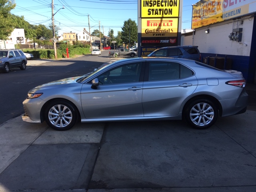
[[[184,118],[193,128],[206,129],[216,122],[218,109],[208,99],[197,99],[186,106]]]

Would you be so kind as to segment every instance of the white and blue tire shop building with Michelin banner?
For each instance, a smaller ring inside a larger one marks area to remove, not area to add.
[[[193,32],[182,35],[182,45],[192,38],[202,62],[239,70],[256,83],[256,0],[200,0],[192,6]]]

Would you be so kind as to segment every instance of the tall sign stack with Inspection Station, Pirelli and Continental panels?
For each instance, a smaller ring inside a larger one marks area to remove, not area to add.
[[[178,45],[180,0],[140,0],[140,53]]]

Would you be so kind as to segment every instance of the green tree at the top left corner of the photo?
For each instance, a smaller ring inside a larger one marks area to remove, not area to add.
[[[15,26],[15,18],[10,13],[16,4],[14,0],[0,0],[0,39],[7,40]]]

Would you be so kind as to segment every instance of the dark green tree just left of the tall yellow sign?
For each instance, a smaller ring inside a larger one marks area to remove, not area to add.
[[[122,27],[122,41],[129,46],[134,45],[134,42],[138,42],[138,26],[135,21],[128,19],[124,21]]]

